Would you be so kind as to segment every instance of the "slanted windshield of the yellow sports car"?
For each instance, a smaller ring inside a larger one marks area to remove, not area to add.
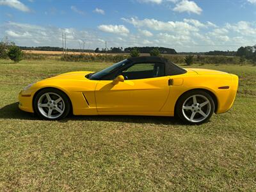
[[[88,76],[88,79],[100,79],[101,77],[104,77],[106,75],[108,75],[109,73],[113,72],[116,70],[116,68],[120,68],[122,66],[124,66],[126,63],[128,62],[128,60],[124,60],[124,61],[120,61],[118,63],[115,63],[114,65],[111,65],[110,67],[104,68],[103,70],[100,70],[99,72],[96,72],[94,74],[90,74],[90,76]]]

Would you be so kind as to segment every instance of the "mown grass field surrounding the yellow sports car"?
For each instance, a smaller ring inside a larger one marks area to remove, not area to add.
[[[0,191],[256,191],[256,67],[204,65],[240,82],[233,108],[203,125],[150,116],[45,121],[18,109],[29,83],[109,64],[0,60]]]

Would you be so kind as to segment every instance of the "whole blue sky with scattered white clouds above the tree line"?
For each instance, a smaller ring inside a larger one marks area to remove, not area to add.
[[[256,44],[256,0],[0,0],[0,38],[86,49],[233,51]]]

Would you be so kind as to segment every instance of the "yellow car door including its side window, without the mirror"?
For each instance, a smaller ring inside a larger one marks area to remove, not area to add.
[[[116,76],[120,74],[124,82],[114,85],[113,80],[102,80],[97,84],[97,111],[159,111],[163,107],[170,92],[164,64],[136,63]]]

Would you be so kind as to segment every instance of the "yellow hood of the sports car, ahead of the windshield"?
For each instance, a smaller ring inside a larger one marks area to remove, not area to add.
[[[49,79],[78,79],[84,80],[86,79],[86,75],[92,73],[92,71],[75,71],[75,72],[67,72],[65,74],[60,74],[58,76],[50,77]]]

